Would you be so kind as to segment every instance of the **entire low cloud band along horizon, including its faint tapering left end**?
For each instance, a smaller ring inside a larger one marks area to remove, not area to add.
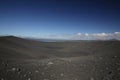
[[[109,40],[109,39],[117,39],[120,40],[120,32],[114,33],[76,33],[76,34],[62,34],[62,35],[54,35],[49,38],[59,38],[59,39],[70,39],[70,40]]]

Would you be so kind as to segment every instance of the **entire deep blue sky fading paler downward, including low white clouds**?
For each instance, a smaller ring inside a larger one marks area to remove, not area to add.
[[[0,0],[0,35],[120,39],[120,0]]]

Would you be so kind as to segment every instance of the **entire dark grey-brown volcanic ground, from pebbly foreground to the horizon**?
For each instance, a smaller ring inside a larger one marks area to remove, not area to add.
[[[0,37],[0,80],[120,80],[119,41]]]

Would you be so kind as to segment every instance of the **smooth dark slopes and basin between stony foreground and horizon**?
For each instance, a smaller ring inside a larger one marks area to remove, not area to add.
[[[28,38],[24,39],[15,36],[2,36],[0,37],[0,57],[20,59],[77,57],[97,53],[97,51],[102,53],[105,51],[109,53],[110,50],[119,51],[118,47],[120,47],[120,41],[116,40],[52,40],[52,42],[50,42],[51,40],[42,40],[34,40]]]

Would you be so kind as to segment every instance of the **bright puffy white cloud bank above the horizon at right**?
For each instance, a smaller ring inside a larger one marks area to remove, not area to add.
[[[81,34],[77,33],[73,36],[72,39],[78,40],[109,40],[109,39],[118,39],[120,40],[120,32],[114,33],[93,33],[93,34]]]

